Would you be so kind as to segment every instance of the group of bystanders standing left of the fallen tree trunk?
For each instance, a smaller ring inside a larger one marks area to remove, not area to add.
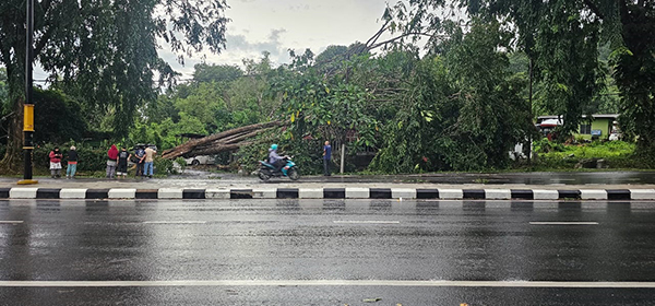
[[[109,151],[107,151],[107,178],[121,178],[128,176],[128,161],[134,156],[134,163],[136,164],[135,176],[147,176],[153,177],[154,166],[153,162],[157,151],[151,146],[139,145],[134,150],[132,155],[128,150],[122,146],[120,151],[116,144],[111,144]],[[48,155],[50,158],[50,175],[52,178],[61,177],[61,160],[63,155],[59,148],[55,148]],[[71,146],[68,155],[68,167],[66,169],[66,178],[74,178],[78,172],[78,151],[74,145]]]

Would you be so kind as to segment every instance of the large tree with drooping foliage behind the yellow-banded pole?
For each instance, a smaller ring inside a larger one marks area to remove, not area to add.
[[[22,142],[25,5],[24,0],[0,2],[0,63],[14,110],[5,168],[16,166],[12,158]],[[157,55],[158,39],[180,61],[204,48],[218,52],[226,8],[225,0],[36,0],[35,58],[52,83],[68,84],[69,94],[111,108],[115,132],[124,136],[136,106],[156,97],[155,75],[164,82],[175,74]]]

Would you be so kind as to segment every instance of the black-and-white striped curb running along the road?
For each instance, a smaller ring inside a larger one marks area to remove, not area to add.
[[[413,189],[413,188],[255,188],[255,189],[85,189],[0,188],[0,199],[433,199],[433,200],[655,200],[655,189]]]

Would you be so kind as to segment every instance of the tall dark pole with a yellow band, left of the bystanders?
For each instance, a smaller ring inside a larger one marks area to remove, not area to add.
[[[20,185],[37,184],[32,179],[32,150],[34,150],[34,102],[32,63],[34,61],[34,0],[27,1],[27,14],[25,23],[25,103],[23,104],[23,151],[24,172]]]

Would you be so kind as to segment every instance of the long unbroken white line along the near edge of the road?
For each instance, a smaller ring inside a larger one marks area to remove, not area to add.
[[[0,287],[152,286],[414,286],[655,289],[655,282],[400,281],[400,280],[214,280],[214,281],[0,281]]]

